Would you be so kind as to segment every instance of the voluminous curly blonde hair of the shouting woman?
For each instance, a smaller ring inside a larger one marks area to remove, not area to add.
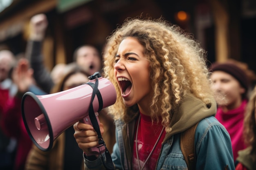
[[[150,78],[153,98],[150,104],[151,117],[162,117],[162,124],[168,126],[173,110],[182,102],[184,95],[209,102],[210,81],[206,65],[206,53],[193,36],[185,33],[177,25],[163,18],[127,18],[107,38],[104,50],[104,77],[117,90],[117,101],[110,106],[115,119],[124,119],[134,107],[127,108],[122,100],[118,83],[114,76],[115,55],[119,44],[126,37],[139,40],[144,46],[144,54],[150,61]],[[137,109],[137,107],[135,106]],[[158,119],[157,119],[158,120]]]

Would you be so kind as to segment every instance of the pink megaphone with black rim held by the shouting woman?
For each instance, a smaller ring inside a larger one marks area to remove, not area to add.
[[[102,101],[102,103],[99,102],[95,95],[92,102],[97,117],[101,108],[115,104],[117,93],[113,84],[108,79],[101,77],[98,72],[92,76],[94,79],[88,83],[95,84],[98,81],[98,90]],[[88,113],[93,88],[88,83],[49,95],[34,95],[31,92],[23,95],[22,118],[29,137],[40,150],[50,150],[54,140],[77,121],[82,119],[84,123],[91,124]],[[98,117],[97,121],[99,123]],[[105,151],[105,147],[91,149],[97,153],[99,153],[99,149],[100,152]]]

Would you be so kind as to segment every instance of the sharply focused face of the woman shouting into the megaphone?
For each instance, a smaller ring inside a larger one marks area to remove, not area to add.
[[[125,38],[115,57],[114,74],[119,84],[124,104],[138,104],[142,111],[151,101],[149,61],[144,56],[144,47],[136,38]],[[150,113],[148,113],[150,114]]]

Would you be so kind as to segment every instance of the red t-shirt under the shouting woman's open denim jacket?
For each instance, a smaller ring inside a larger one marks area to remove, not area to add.
[[[150,116],[141,114],[141,118],[139,119],[138,132],[137,126],[135,128],[132,159],[133,170],[140,170],[136,153],[136,134],[140,168],[143,167],[146,159],[148,158],[148,155],[150,155],[151,150],[153,149],[155,143],[157,142],[157,139],[159,138],[159,141],[157,142],[151,156],[148,158],[143,168],[144,170],[155,169],[157,159],[161,151],[162,141],[164,140],[166,134],[165,129],[163,129],[163,131],[162,129],[163,126],[161,125],[161,121],[158,124],[156,124],[156,122],[152,124]]]

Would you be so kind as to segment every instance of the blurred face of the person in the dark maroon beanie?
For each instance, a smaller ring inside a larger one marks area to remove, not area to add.
[[[211,80],[213,82],[211,88],[219,106],[227,107],[228,110],[240,106],[245,88],[236,78],[224,71],[214,71]]]

